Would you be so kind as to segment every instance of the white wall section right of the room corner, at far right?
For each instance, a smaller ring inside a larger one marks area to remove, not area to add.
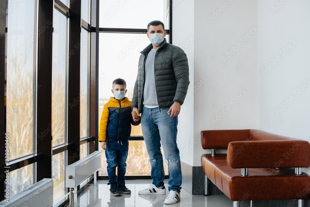
[[[258,3],[259,130],[308,142],[309,9],[308,0],[259,0]],[[273,67],[266,69],[266,64]],[[303,171],[310,174],[309,169]]]

